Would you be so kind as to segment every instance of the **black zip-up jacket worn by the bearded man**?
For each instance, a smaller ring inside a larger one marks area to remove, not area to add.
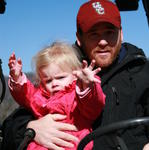
[[[106,105],[93,128],[114,122],[149,115],[149,62],[143,51],[124,43],[120,55],[107,71],[101,71],[102,88]],[[18,109],[3,123],[2,150],[15,150],[23,139],[26,124],[33,117]],[[149,141],[144,126],[119,131],[129,150],[141,150]],[[115,136],[102,136],[94,141],[94,149],[115,150]],[[9,143],[9,144],[8,144]]]

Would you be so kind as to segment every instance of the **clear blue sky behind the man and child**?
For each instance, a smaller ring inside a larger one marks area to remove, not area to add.
[[[0,14],[0,58],[5,75],[8,59],[14,51],[23,62],[23,71],[31,71],[32,57],[54,40],[73,43],[76,39],[76,15],[87,0],[6,0]],[[149,26],[142,0],[137,11],[121,12],[124,42],[142,48],[149,57]]]

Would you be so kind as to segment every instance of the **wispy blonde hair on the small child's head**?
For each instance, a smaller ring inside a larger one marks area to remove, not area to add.
[[[64,42],[53,42],[33,57],[35,74],[39,82],[40,69],[51,63],[57,64],[65,72],[72,72],[81,68],[81,62],[75,54],[74,48]]]

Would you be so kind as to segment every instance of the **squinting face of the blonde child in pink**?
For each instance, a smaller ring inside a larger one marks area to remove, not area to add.
[[[70,72],[64,72],[57,64],[51,63],[40,69],[40,78],[44,88],[54,95],[65,86],[71,84],[75,77]]]

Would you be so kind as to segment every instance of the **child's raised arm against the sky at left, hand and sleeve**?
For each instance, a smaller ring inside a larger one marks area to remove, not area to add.
[[[9,58],[8,63],[10,73],[8,86],[13,98],[23,107],[29,107],[30,97],[35,91],[34,85],[22,73],[22,61],[16,59],[14,53]]]

